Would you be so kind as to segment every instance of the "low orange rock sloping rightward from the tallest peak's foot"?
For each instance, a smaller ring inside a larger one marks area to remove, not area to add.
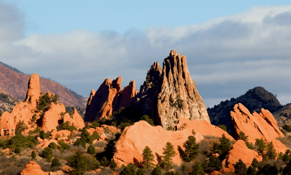
[[[181,117],[179,118],[179,122],[176,125],[176,128],[179,129],[182,124],[186,123],[187,126],[185,126],[185,129],[189,130],[192,132],[199,132],[202,135],[210,135],[210,136],[216,136],[216,137],[221,137],[222,134],[225,134],[226,138],[230,140],[234,140],[232,136],[230,136],[227,132],[222,130],[221,128],[211,125],[208,121],[203,120],[189,120],[188,118]]]

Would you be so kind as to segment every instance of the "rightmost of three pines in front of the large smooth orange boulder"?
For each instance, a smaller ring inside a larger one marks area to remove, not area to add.
[[[196,138],[194,136],[188,136],[188,140],[183,143],[183,147],[185,148],[184,161],[190,162],[199,153],[199,144],[196,144]]]

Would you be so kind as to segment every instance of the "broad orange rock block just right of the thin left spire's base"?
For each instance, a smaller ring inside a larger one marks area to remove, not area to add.
[[[66,112],[65,106],[61,103],[54,104],[52,102],[42,118],[41,130],[45,132],[56,130],[56,127],[61,124],[59,120],[61,120],[62,112]]]

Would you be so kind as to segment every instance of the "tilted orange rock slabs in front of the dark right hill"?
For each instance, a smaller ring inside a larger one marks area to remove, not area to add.
[[[263,139],[265,142],[271,142],[276,137],[283,137],[284,134],[277,126],[277,122],[272,113],[264,108],[261,109],[261,113],[253,112],[251,114],[249,110],[241,103],[236,104],[233,107],[233,111],[230,112],[232,119],[232,134],[236,137],[239,132],[244,132],[249,136],[249,142],[255,143],[255,139]]]

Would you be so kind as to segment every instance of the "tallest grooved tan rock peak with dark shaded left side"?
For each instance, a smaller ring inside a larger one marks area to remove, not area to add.
[[[186,57],[171,50],[163,67],[155,62],[136,96],[146,115],[163,128],[174,127],[181,117],[210,122],[206,106],[187,68]]]

